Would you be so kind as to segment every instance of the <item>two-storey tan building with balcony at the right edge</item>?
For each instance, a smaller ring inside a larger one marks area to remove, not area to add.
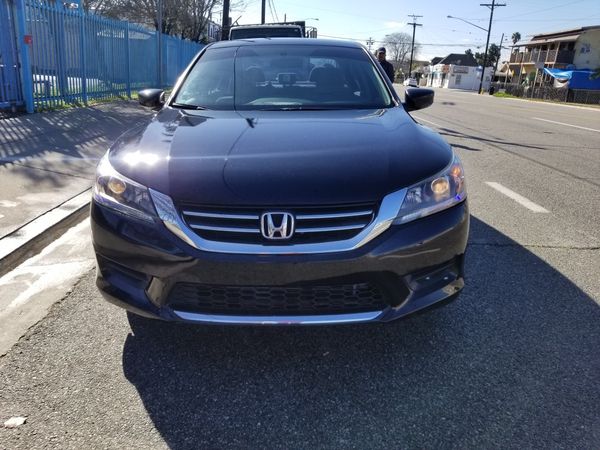
[[[534,35],[517,43],[510,55],[513,82],[542,74],[543,69],[600,67],[600,25]]]

